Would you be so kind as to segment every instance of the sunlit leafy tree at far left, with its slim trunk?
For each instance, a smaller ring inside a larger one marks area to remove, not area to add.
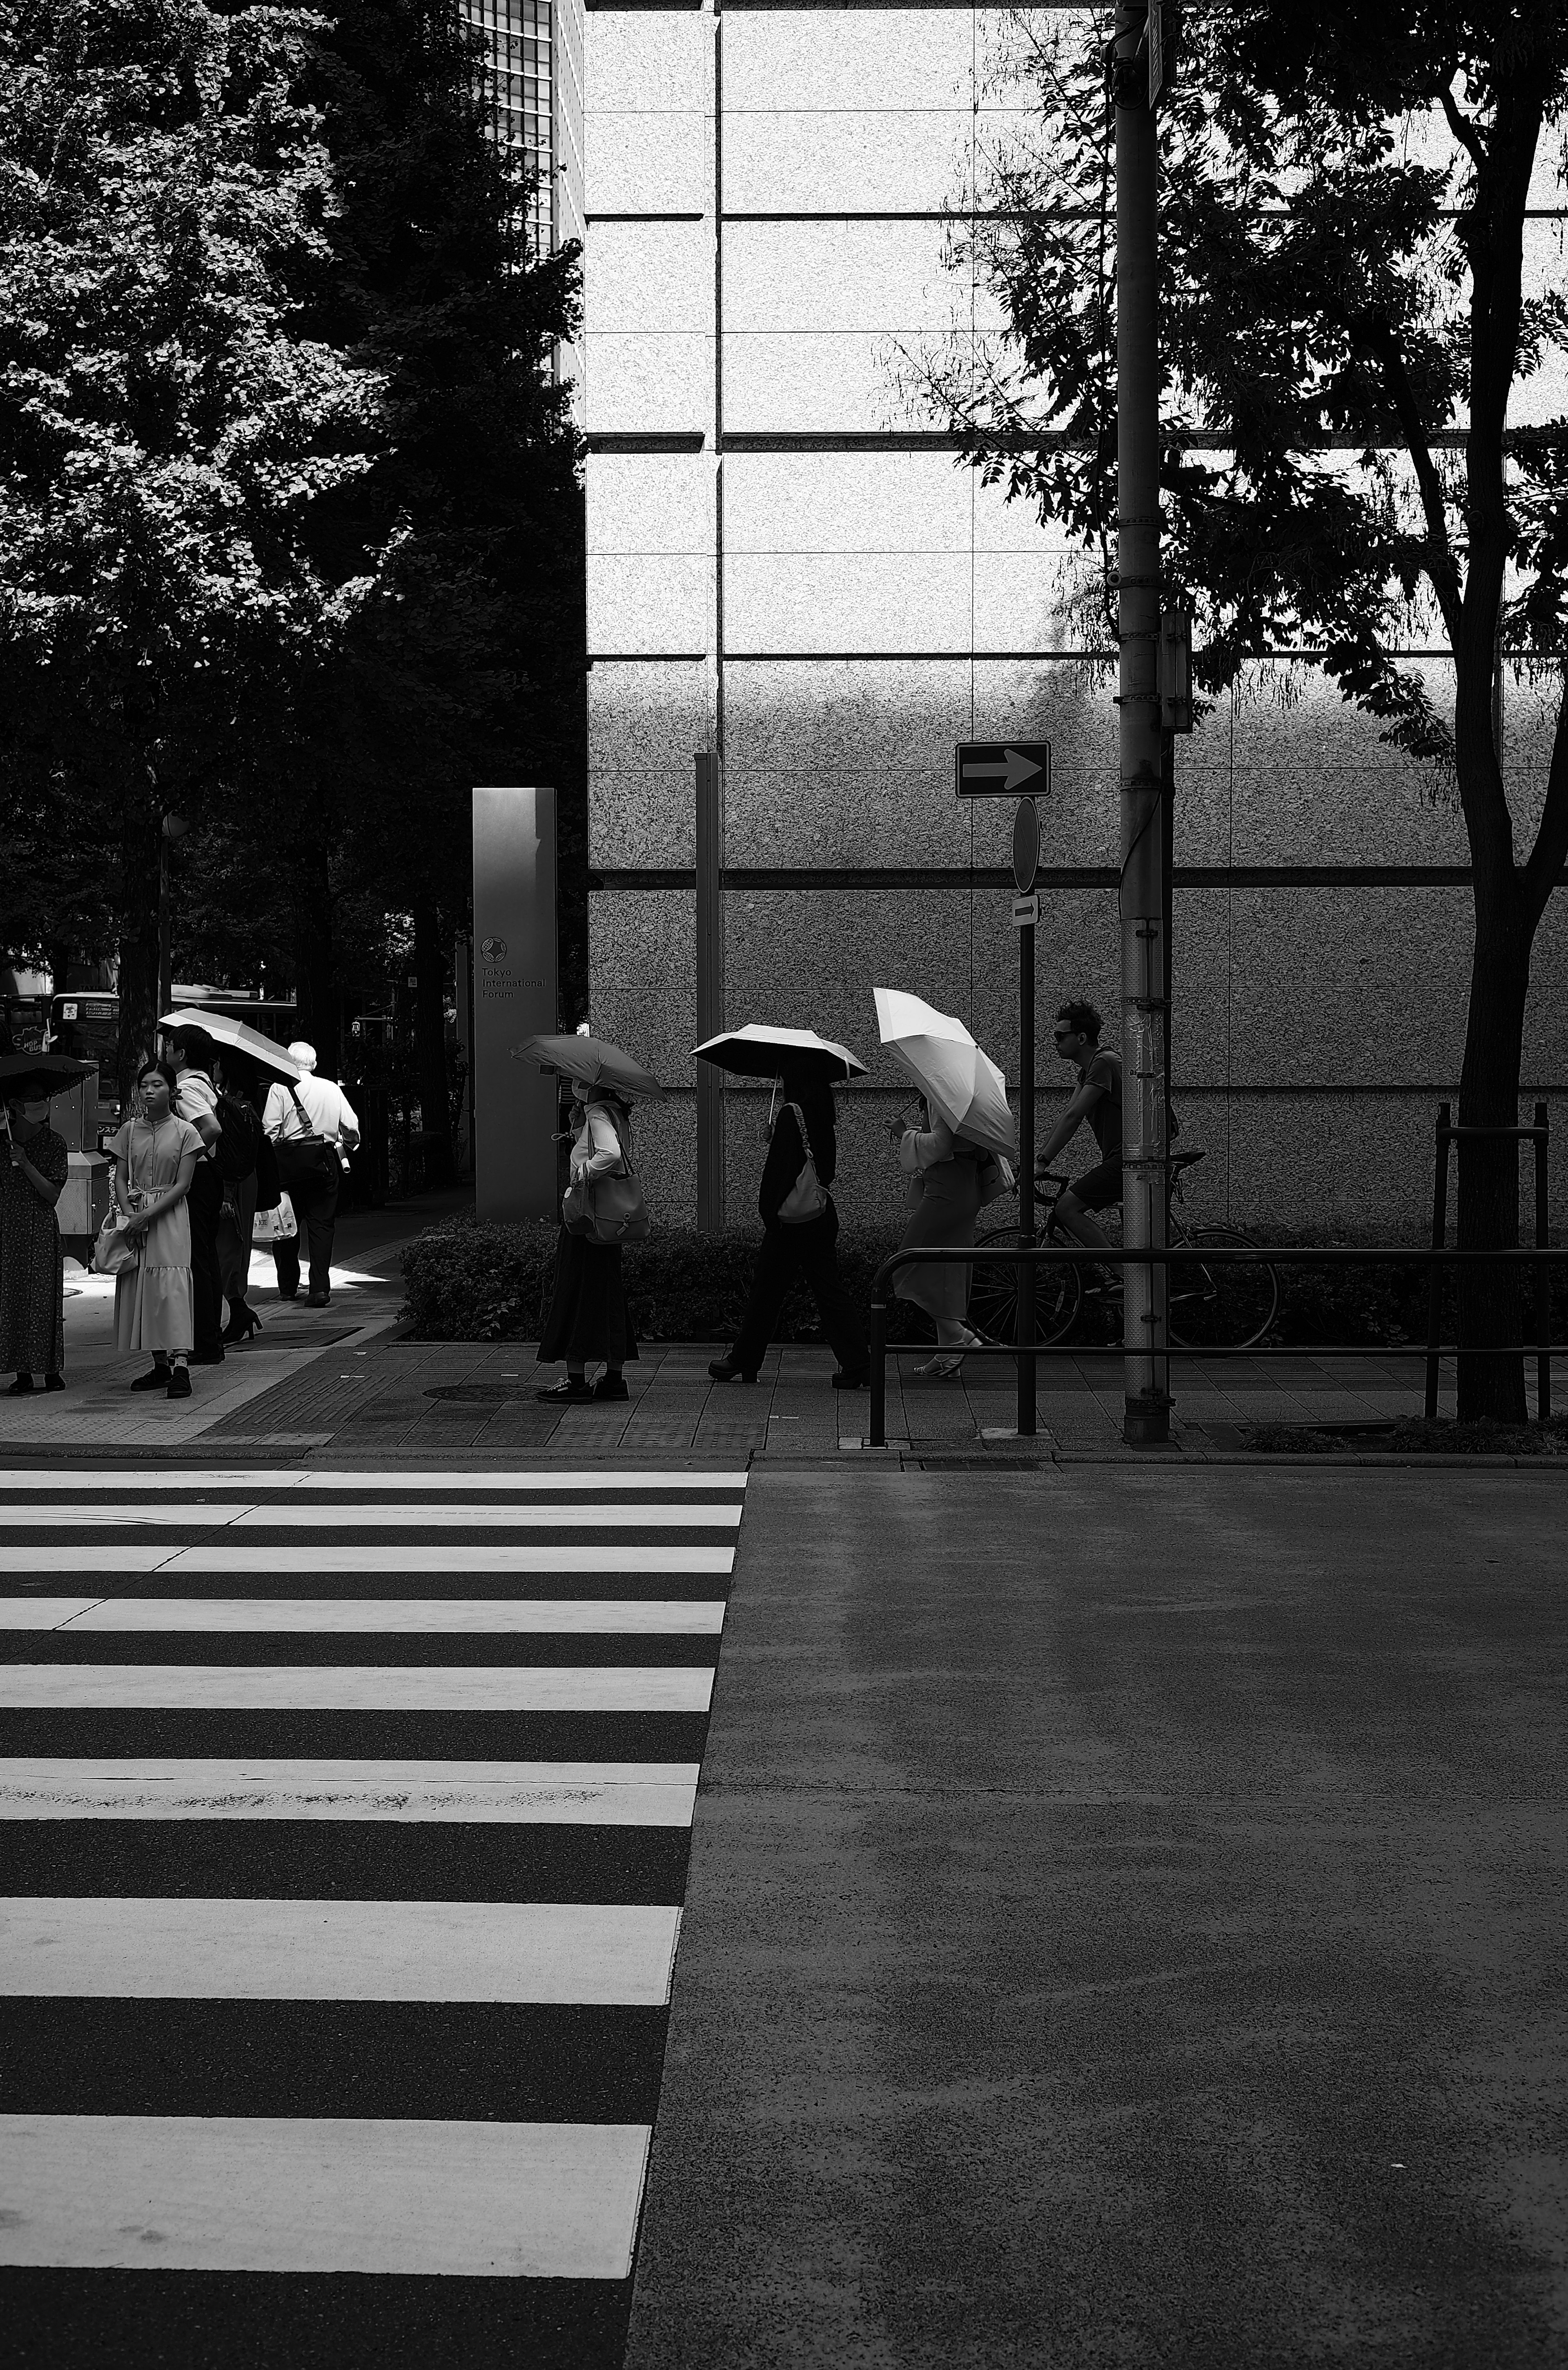
[[[362,592],[306,536],[379,393],[303,318],[332,213],[306,57],[284,9],[0,0],[5,747],[109,858],[123,1078],[159,818],[216,794]]]

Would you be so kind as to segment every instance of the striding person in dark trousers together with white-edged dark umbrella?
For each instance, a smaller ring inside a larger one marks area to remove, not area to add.
[[[734,1346],[715,1358],[708,1372],[715,1382],[756,1382],[784,1294],[796,1275],[805,1275],[822,1332],[838,1358],[834,1389],[860,1391],[872,1379],[872,1358],[855,1304],[838,1275],[838,1211],[829,1185],[838,1173],[834,1078],[848,1078],[865,1064],[848,1045],[831,1045],[812,1029],[756,1024],[708,1038],[696,1048],[696,1057],[741,1076],[777,1078],[758,1187],[763,1249]]]

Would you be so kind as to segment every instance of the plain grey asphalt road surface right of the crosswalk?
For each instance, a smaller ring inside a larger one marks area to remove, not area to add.
[[[1561,2370],[1566,1524],[758,1469],[628,2370]]]

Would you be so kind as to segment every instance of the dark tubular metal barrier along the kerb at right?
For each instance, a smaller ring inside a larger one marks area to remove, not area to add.
[[[981,1244],[976,1249],[947,1249],[945,1244],[912,1244],[907,1251],[893,1251],[879,1266],[872,1277],[872,1431],[869,1446],[888,1446],[888,1280],[900,1268],[976,1268],[976,1266],[1009,1266],[1009,1268],[1042,1268],[1054,1261],[1085,1261],[1094,1268],[1170,1268],[1177,1261],[1201,1261],[1206,1268],[1241,1268],[1262,1261],[1265,1266],[1293,1266],[1293,1268],[1551,1268],[1568,1266],[1568,1244],[1559,1249],[1516,1249],[1516,1251],[1450,1251],[1450,1249],[1426,1249],[1414,1251],[1407,1247],[1376,1249],[1360,1244],[1331,1244],[1312,1249],[1310,1244],[1284,1242],[1284,1244],[1234,1244],[1225,1249],[1206,1249],[1199,1244],[1170,1244],[1168,1249],[1092,1249],[1082,1242],[1037,1242],[1018,1244],[1007,1249],[997,1244],[995,1249]],[[1435,1304],[1431,1304],[1435,1308]],[[966,1349],[964,1358],[1078,1358],[1087,1344],[1082,1341],[983,1341],[978,1349]],[[1113,1356],[1123,1356],[1123,1344],[1113,1346]],[[1535,1358],[1537,1370],[1549,1372],[1551,1358],[1568,1358],[1568,1341],[1532,1341],[1514,1344],[1499,1349],[1471,1349],[1461,1341],[1438,1341],[1435,1322],[1428,1318],[1426,1341],[1345,1341],[1345,1344],[1317,1344],[1317,1341],[1274,1341],[1258,1344],[1253,1349],[1229,1349],[1217,1344],[1213,1349],[1189,1346],[1165,1341],[1158,1346],[1161,1358],[1426,1358],[1428,1372],[1438,1358]]]

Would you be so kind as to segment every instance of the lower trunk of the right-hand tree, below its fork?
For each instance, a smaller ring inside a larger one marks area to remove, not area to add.
[[[1525,995],[1530,993],[1530,929],[1523,896],[1476,896],[1471,1012],[1459,1078],[1461,1128],[1518,1126]],[[1497,1251],[1518,1244],[1518,1140],[1459,1138],[1459,1249]],[[1466,1349],[1521,1349],[1521,1270],[1459,1268],[1459,1341]],[[1525,1367],[1518,1358],[1459,1358],[1459,1420],[1492,1415],[1525,1422]]]

